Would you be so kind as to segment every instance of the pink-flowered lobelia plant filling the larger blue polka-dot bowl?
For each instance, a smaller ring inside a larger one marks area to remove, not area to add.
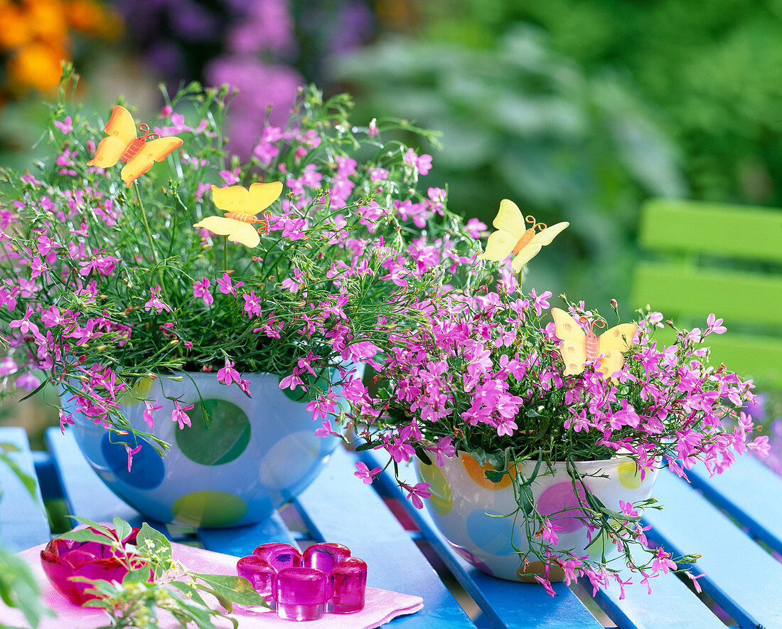
[[[302,88],[289,123],[267,124],[242,163],[224,151],[227,87],[164,93],[130,148],[131,114],[115,107],[102,133],[70,100],[76,80],[66,66],[52,155],[23,174],[0,169],[6,391],[54,383],[124,433],[120,401],[143,398],[146,378],[213,372],[249,395],[242,374],[271,372],[311,390],[307,408],[326,419],[350,376],[342,365],[371,363],[390,335],[425,322],[409,307],[418,293],[474,257],[475,225],[447,210],[445,190],[418,189],[431,157],[384,142],[429,133],[357,127],[346,95]],[[149,426],[167,419],[146,404]],[[189,425],[187,411],[170,419]],[[60,411],[63,428],[73,421]]]

